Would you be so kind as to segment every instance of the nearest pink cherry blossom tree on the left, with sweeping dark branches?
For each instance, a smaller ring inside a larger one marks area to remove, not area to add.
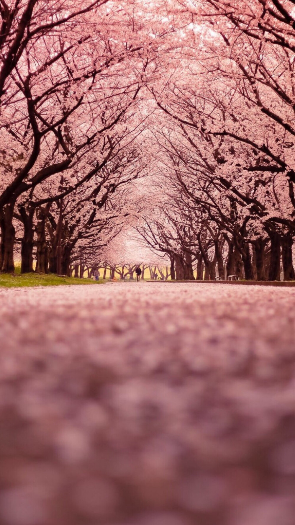
[[[2,42],[3,56],[17,55],[6,61],[2,75],[0,132],[2,143],[9,142],[0,192],[2,271],[14,269],[13,215],[19,199],[24,193],[30,198],[58,173],[66,172],[71,192],[99,172],[113,153],[110,131],[133,105],[142,77],[155,70],[155,40],[163,31],[143,33],[135,0],[107,4],[32,1],[17,2],[12,12],[2,10],[4,26],[13,20],[10,37]],[[85,173],[94,159],[96,167]],[[74,184],[73,171],[80,174]],[[24,208],[20,216],[26,224]]]

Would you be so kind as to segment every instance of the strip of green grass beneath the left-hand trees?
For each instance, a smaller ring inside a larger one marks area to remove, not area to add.
[[[93,285],[102,281],[93,279],[75,279],[74,277],[58,277],[54,274],[0,274],[0,288],[17,288],[23,286],[61,286],[61,285]]]

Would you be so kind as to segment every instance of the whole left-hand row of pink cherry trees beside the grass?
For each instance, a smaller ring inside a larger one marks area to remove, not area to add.
[[[143,79],[166,33],[140,4],[0,2],[0,271],[18,250],[22,272],[36,257],[69,274],[133,213],[126,188],[151,167]]]

